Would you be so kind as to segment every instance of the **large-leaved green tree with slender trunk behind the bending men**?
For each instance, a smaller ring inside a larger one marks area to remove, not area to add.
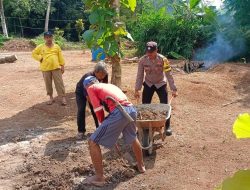
[[[120,20],[120,5],[135,10],[136,0],[85,0],[89,13],[90,28],[85,31],[83,38],[88,47],[101,47],[112,61],[111,82],[121,86],[120,37],[130,37],[125,23]]]

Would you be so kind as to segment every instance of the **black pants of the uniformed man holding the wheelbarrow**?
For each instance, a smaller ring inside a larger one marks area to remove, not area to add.
[[[143,83],[143,86],[144,86],[143,91],[142,91],[142,103],[143,104],[150,104],[155,92],[157,93],[160,99],[160,103],[163,103],[163,104],[168,103],[168,92],[167,92],[166,84],[158,89],[154,85],[149,87],[145,82]],[[170,127],[170,118],[166,121],[165,127],[166,129]]]

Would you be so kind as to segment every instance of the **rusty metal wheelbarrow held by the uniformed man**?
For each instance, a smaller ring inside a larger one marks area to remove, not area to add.
[[[136,106],[138,114],[139,110],[148,109],[150,110],[161,110],[166,113],[166,117],[162,119],[138,119],[136,120],[136,126],[138,128],[138,139],[142,145],[143,152],[146,155],[153,153],[154,133],[158,132],[161,135],[162,141],[164,141],[166,135],[164,133],[166,120],[171,115],[170,104],[139,104]]]

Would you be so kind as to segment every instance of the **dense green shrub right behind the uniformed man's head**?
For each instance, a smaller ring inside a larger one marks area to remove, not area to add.
[[[137,42],[139,54],[144,53],[146,42],[152,40],[158,43],[159,52],[163,55],[176,52],[191,58],[194,49],[204,45],[212,34],[211,28],[203,25],[202,19],[161,11],[143,13],[127,26]]]

